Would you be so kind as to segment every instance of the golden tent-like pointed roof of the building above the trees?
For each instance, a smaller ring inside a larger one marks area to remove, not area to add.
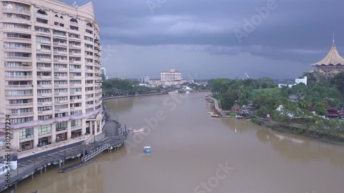
[[[333,77],[337,73],[344,71],[344,58],[338,54],[336,45],[334,45],[334,38],[332,41],[332,47],[325,58],[320,60],[318,63],[312,64],[312,66],[316,67],[319,73],[322,73],[327,77]]]

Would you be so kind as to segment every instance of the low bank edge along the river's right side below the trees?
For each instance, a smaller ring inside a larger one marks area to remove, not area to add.
[[[215,98],[212,98],[211,95],[206,95],[207,100],[212,100],[215,105],[215,110],[222,114],[224,111],[219,108],[219,104]],[[233,113],[237,113],[234,112]],[[266,126],[273,130],[279,130],[286,133],[294,133],[298,135],[303,135],[305,137],[312,137],[313,139],[319,139],[321,141],[330,142],[332,144],[344,145],[344,135],[333,135],[332,133],[324,133],[319,130],[312,129],[311,127],[305,128],[302,125],[293,124],[292,126],[286,126],[284,123],[273,122],[265,120],[262,117],[257,117],[255,115],[248,115],[249,119],[252,120],[253,123],[259,124],[261,126]]]

